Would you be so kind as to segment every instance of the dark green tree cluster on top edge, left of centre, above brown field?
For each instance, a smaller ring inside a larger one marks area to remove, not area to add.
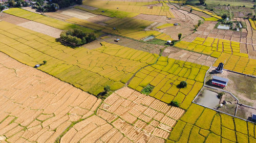
[[[82,0],[48,0],[47,4],[43,0],[36,0],[36,6],[34,8],[40,12],[55,12],[76,4],[81,5]]]

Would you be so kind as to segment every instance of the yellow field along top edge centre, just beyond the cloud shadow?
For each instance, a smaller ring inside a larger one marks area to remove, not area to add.
[[[161,6],[145,6],[160,4]],[[117,12],[130,12],[137,14],[149,14],[149,15],[162,15],[169,18],[175,18],[173,13],[169,11],[169,7],[164,2],[126,2],[126,1],[83,1],[83,5],[99,8],[100,11],[112,10],[112,13]],[[118,9],[117,9],[118,8]],[[97,10],[94,10],[97,11]],[[99,11],[99,10],[98,10]],[[134,15],[136,16],[136,15]]]

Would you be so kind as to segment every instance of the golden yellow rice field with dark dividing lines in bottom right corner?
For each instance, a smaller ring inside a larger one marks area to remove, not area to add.
[[[175,142],[252,143],[256,141],[255,129],[253,123],[191,104],[168,139]]]

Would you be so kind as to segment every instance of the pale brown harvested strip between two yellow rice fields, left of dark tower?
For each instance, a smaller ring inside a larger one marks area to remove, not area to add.
[[[169,48],[166,48],[164,52],[165,51],[167,52],[168,50]],[[195,53],[187,50],[181,50],[177,53],[170,53],[168,55],[168,58],[173,58],[175,60],[181,60],[185,62],[196,63],[199,65],[204,65],[208,67],[212,66],[216,61],[216,58],[213,58],[209,55]]]

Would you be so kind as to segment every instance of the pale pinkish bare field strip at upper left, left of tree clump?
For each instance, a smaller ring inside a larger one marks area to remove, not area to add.
[[[62,30],[35,21],[28,21],[17,25],[55,38],[59,38],[62,32]]]

